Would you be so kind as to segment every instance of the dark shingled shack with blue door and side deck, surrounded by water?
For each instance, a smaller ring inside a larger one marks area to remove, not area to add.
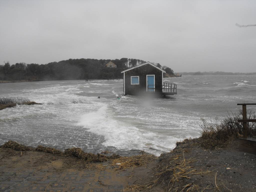
[[[147,92],[164,96],[177,94],[177,85],[163,83],[165,71],[151,62],[145,62],[121,73],[124,74],[124,95],[139,95]]]

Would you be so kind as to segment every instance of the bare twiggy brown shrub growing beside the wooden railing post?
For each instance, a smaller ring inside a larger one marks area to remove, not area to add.
[[[214,149],[217,147],[228,146],[236,138],[242,137],[243,125],[238,122],[241,118],[242,111],[239,114],[227,116],[222,121],[206,121],[202,119],[201,137],[197,140],[201,146]],[[247,119],[256,119],[256,114],[253,111],[247,112]],[[256,123],[247,123],[248,136],[256,135]]]

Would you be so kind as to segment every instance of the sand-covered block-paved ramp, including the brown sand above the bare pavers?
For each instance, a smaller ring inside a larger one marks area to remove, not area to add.
[[[86,166],[73,157],[0,149],[0,191],[114,192],[132,184],[128,176],[133,170],[115,170],[108,162]]]

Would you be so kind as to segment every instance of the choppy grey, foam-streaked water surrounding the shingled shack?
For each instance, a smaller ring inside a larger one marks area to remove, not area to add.
[[[0,84],[1,97],[23,97],[43,105],[0,111],[0,144],[14,140],[87,152],[139,149],[160,155],[176,141],[199,136],[200,118],[238,112],[256,101],[256,76],[184,76],[178,94],[148,99],[123,96],[123,80],[40,81]],[[100,96],[100,99],[97,97]],[[254,106],[248,106],[253,109]]]

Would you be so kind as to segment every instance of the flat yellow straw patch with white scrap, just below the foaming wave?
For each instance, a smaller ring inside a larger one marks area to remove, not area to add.
[[[146,167],[147,163],[151,162],[156,157],[154,155],[142,154],[131,157],[120,157],[113,159],[112,166],[116,169],[125,169],[130,167]]]

